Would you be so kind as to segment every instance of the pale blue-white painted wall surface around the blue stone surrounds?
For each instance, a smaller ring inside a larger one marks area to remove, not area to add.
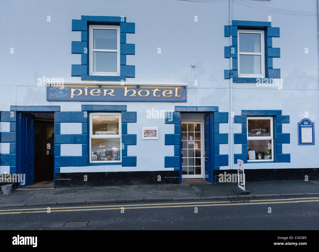
[[[290,115],[290,123],[282,127],[283,133],[290,133],[290,144],[283,144],[282,149],[291,154],[291,163],[254,163],[245,164],[245,168],[318,167],[318,45],[314,13],[317,1],[246,2],[233,1],[233,20],[268,21],[271,16],[272,26],[280,27],[280,38],[273,38],[272,43],[273,47],[280,47],[281,57],[273,59],[273,67],[281,69],[283,88],[234,83],[233,111],[240,115],[242,109],[281,109],[283,115]],[[61,111],[81,111],[82,104],[116,104],[127,105],[127,111],[137,111],[137,123],[128,123],[128,133],[137,134],[137,145],[128,146],[128,155],[137,156],[137,167],[94,169],[165,170],[164,156],[173,156],[174,147],[164,145],[164,136],[174,133],[174,125],[165,124],[164,119],[147,119],[146,111],[152,107],[174,110],[174,106],[219,106],[219,112],[231,112],[229,80],[224,79],[230,60],[224,58],[224,46],[229,46],[229,38],[224,37],[228,1],[21,0],[1,1],[0,10],[0,29],[6,34],[0,58],[1,110],[10,110],[11,105],[59,105]],[[51,22],[47,22],[48,15]],[[123,15],[127,22],[134,22],[135,34],[127,34],[127,43],[135,44],[135,56],[127,56],[127,64],[135,65],[136,78],[127,78],[127,82],[188,83],[187,102],[46,101],[46,89],[37,86],[37,78],[64,78],[65,83],[80,81],[80,77],[71,77],[71,64],[81,61],[80,55],[71,54],[71,41],[81,40],[81,32],[71,31],[71,19],[81,19],[81,15]],[[194,16],[198,22],[194,22]],[[159,47],[161,54],[157,53]],[[14,48],[14,54],[10,54],[10,48]],[[191,62],[196,63],[194,77]],[[192,78],[198,80],[197,86],[192,85]],[[315,122],[316,145],[298,145],[297,123],[305,112]],[[159,128],[158,140],[142,140],[142,127],[147,126]],[[230,123],[222,123],[219,132],[229,133],[229,127]],[[1,124],[0,130],[3,128],[9,131],[10,124]],[[234,124],[234,133],[241,133],[241,124]],[[233,153],[241,153],[241,145],[231,147]],[[228,154],[229,145],[220,145],[219,153]],[[230,167],[236,169],[237,165],[220,169]],[[93,167],[82,169],[92,171]],[[61,172],[70,172],[67,170],[61,167]]]

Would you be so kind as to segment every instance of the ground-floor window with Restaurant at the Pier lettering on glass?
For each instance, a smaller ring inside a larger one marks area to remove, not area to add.
[[[247,161],[273,161],[272,117],[247,117]]]

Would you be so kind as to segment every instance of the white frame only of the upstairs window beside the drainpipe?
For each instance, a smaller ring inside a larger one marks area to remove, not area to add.
[[[239,33],[255,33],[260,34],[260,53],[241,52],[239,44]],[[237,45],[238,45],[238,77],[239,78],[265,78],[265,42],[264,31],[239,30],[237,31]],[[260,55],[261,56],[261,74],[241,74],[240,73],[240,55]]]

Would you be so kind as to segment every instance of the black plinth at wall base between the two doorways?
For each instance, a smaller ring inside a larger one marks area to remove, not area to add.
[[[84,181],[84,176],[87,181]],[[159,177],[160,176],[160,181]],[[179,171],[56,173],[55,187],[179,184]]]

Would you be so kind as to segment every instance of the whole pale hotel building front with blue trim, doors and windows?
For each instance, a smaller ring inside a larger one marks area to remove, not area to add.
[[[318,2],[2,1],[0,173],[317,179]],[[234,172],[233,172],[234,170]]]

